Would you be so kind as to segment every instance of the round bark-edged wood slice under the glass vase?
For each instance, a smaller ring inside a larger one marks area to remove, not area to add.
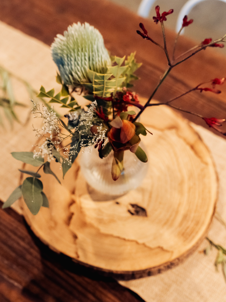
[[[153,136],[141,136],[149,169],[137,189],[95,201],[77,160],[64,180],[52,161],[62,185],[39,172],[49,209],[33,216],[20,201],[27,223],[51,249],[124,280],[158,274],[190,255],[205,237],[217,198],[214,163],[189,121],[153,106],[141,122]],[[146,215],[136,215],[139,209]]]

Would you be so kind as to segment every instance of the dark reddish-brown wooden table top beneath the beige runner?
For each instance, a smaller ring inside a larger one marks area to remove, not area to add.
[[[170,9],[171,7],[169,7]],[[168,16],[170,18],[170,16]],[[50,45],[58,33],[73,22],[89,22],[102,33],[111,54],[129,55],[137,51],[140,80],[134,86],[140,96],[149,97],[167,67],[163,51],[137,35],[139,22],[149,35],[162,44],[161,26],[145,20],[107,0],[2,0],[0,20]],[[175,33],[166,30],[171,53]],[[209,37],[204,37],[209,38]],[[177,53],[196,43],[180,37]],[[214,49],[202,50],[175,67],[155,98],[168,101],[201,82],[225,76],[226,57]],[[193,92],[180,107],[206,117],[226,117],[226,85],[219,95]],[[185,117],[207,127],[203,120]],[[207,127],[208,128],[208,127]],[[137,294],[115,280],[94,273],[52,252],[30,231],[24,219],[12,209],[0,210],[0,301],[1,302],[120,302],[143,301]]]

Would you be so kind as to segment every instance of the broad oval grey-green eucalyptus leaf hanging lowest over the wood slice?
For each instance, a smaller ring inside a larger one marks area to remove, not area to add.
[[[27,177],[22,184],[22,194],[27,207],[33,215],[38,214],[42,206],[42,182],[38,178]]]

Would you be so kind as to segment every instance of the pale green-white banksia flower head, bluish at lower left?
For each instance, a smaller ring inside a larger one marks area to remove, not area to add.
[[[104,73],[111,59],[100,32],[89,23],[73,24],[51,45],[52,58],[64,84],[76,87],[90,82],[87,70]]]

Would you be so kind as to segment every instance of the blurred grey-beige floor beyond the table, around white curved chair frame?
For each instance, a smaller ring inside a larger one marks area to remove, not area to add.
[[[137,13],[141,0],[111,0],[118,5],[124,6]],[[174,13],[167,17],[165,27],[175,30],[177,17],[187,0],[157,0],[153,3],[148,18],[152,19],[155,13],[155,6],[160,6],[160,12],[174,9]],[[188,20],[193,23],[185,28],[184,34],[188,37],[203,41],[205,38],[218,39],[226,33],[226,3],[219,0],[206,0],[198,3],[188,14]],[[226,55],[226,47],[216,49]]]

